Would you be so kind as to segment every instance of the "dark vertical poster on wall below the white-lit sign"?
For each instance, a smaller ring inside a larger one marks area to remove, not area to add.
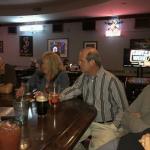
[[[20,36],[20,56],[32,57],[33,56],[33,37]]]

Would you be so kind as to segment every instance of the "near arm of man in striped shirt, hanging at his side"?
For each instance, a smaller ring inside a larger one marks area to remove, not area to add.
[[[121,123],[124,111],[128,108],[128,101],[123,84],[118,79],[112,80],[111,92],[117,107],[113,123],[118,127]]]

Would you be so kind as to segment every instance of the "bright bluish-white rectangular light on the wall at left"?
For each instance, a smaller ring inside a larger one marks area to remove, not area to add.
[[[43,25],[24,25],[20,26],[20,31],[22,32],[38,32],[43,31]]]

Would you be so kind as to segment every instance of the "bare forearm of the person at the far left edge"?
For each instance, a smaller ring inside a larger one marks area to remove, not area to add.
[[[13,84],[12,83],[0,85],[0,93],[9,94],[12,92],[12,90],[13,90]]]

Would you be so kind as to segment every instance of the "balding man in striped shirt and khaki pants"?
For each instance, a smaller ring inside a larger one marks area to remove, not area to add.
[[[79,55],[79,65],[83,74],[72,87],[61,93],[61,99],[82,95],[85,102],[96,107],[97,116],[80,140],[91,135],[89,149],[96,150],[120,136],[120,121],[128,102],[122,83],[103,68],[96,49],[83,49]]]

